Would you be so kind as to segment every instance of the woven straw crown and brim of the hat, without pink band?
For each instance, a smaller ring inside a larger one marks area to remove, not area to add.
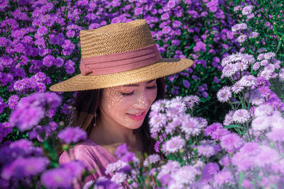
[[[82,58],[115,55],[119,52],[139,50],[155,44],[145,20],[129,23],[114,23],[94,30],[80,31]],[[50,87],[50,91],[84,91],[112,86],[136,84],[151,79],[169,76],[187,69],[193,64],[190,59],[162,59],[138,69],[114,74],[78,74]],[[108,72],[109,73],[109,72]]]

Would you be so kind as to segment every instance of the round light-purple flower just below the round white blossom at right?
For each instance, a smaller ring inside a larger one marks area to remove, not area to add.
[[[239,149],[243,145],[242,139],[235,133],[229,133],[221,137],[221,147],[229,153]]]

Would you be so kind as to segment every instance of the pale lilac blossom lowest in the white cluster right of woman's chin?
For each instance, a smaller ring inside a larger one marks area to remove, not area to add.
[[[185,147],[185,139],[180,136],[172,137],[170,140],[163,144],[163,150],[167,153],[175,153]]]

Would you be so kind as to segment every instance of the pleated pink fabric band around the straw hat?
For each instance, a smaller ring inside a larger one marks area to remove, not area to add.
[[[146,67],[162,59],[155,44],[138,50],[81,59],[80,71],[84,76],[114,74]]]

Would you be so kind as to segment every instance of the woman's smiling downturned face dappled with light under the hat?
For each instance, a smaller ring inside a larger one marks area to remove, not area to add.
[[[137,129],[156,96],[156,80],[105,88],[99,105],[100,119],[107,125]]]

